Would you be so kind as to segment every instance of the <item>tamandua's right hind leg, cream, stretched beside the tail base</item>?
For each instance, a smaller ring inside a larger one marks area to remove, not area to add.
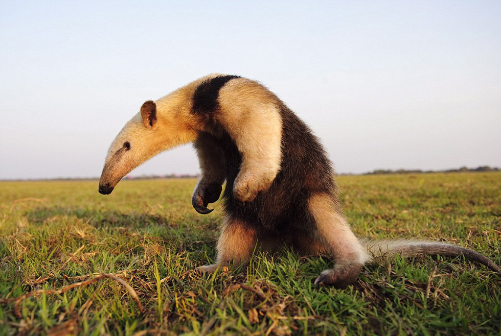
[[[346,287],[358,277],[369,255],[330,195],[311,196],[308,209],[315,220],[318,238],[325,252],[336,261],[334,268],[323,271],[315,283]]]

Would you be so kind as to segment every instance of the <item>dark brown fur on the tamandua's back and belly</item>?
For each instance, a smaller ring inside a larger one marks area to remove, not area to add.
[[[314,232],[315,221],[307,201],[313,193],[325,193],[338,203],[334,172],[322,145],[303,121],[283,104],[280,114],[283,120],[282,169],[268,191],[260,193],[252,203],[239,204],[233,196],[233,183],[242,163],[235,142],[226,132],[221,137],[214,136],[225,158],[224,210],[254,226],[260,242],[282,241],[301,251],[309,251],[305,242]]]

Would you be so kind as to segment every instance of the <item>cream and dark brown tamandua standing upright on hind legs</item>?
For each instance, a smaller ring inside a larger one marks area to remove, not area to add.
[[[353,282],[365,263],[384,253],[464,255],[501,273],[492,260],[459,246],[360,241],[341,212],[334,172],[318,139],[274,93],[239,76],[212,74],[145,102],[111,143],[99,192],[111,193],[136,166],[188,142],[201,168],[195,210],[211,212],[207,205],[219,199],[226,182],[217,260],[199,271],[241,265],[258,244],[328,254],[334,268],[315,283],[337,287]]]

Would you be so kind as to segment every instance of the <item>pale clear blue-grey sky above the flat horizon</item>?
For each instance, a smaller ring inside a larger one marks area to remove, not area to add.
[[[99,177],[147,100],[258,80],[339,173],[501,166],[499,1],[1,1],[0,179]],[[196,174],[191,146],[132,176]]]

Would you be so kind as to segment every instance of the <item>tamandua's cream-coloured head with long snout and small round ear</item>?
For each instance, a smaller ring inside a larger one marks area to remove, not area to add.
[[[157,111],[153,101],[143,104],[109,147],[99,193],[110,194],[125,175],[156,154],[195,140],[196,132],[176,112]]]

